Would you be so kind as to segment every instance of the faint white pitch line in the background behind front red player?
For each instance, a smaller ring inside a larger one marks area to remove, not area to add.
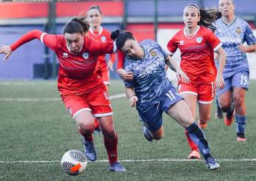
[[[126,95],[110,95],[110,100],[124,98]],[[38,102],[38,101],[59,101],[61,98],[0,98],[0,101],[16,101],[16,102]]]

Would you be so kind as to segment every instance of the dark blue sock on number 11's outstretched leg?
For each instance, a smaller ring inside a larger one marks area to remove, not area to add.
[[[207,160],[207,158],[212,157],[203,130],[196,123],[192,123],[186,130],[189,132],[192,141],[198,146],[204,159]]]

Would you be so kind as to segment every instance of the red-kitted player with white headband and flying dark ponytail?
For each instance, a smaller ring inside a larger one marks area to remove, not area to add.
[[[220,13],[215,10],[201,10],[195,4],[188,4],[183,10],[185,27],[167,44],[172,54],[178,48],[181,50],[181,69],[188,75],[190,82],[178,81],[178,92],[188,104],[194,119],[198,102],[198,125],[201,129],[206,128],[210,119],[216,86],[218,89],[224,87],[223,68],[226,55],[220,40],[212,32],[215,29],[212,22],[220,17]],[[215,67],[214,52],[220,57],[218,71]],[[199,159],[198,147],[186,130],[185,133],[192,148],[189,159]]]

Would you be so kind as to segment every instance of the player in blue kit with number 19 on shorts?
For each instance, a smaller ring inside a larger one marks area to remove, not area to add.
[[[256,39],[249,24],[235,16],[233,0],[219,0],[222,18],[216,21],[216,35],[226,51],[226,66],[223,71],[224,89],[218,90],[218,103],[225,115],[225,124],[237,122],[237,140],[246,141],[246,90],[249,88],[249,64],[246,52],[254,52]],[[246,41],[246,45],[243,43]],[[217,66],[220,66],[217,62]],[[235,112],[234,112],[235,110]]]

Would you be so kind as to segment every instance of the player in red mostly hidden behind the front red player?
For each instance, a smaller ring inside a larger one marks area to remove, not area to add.
[[[94,38],[98,41],[110,41],[110,32],[105,28],[101,27],[101,19],[102,12],[101,7],[92,6],[87,11],[87,18],[90,21],[90,29],[87,33],[87,36]],[[110,59],[106,62],[106,55],[98,56],[98,65],[101,68],[101,74],[106,85],[106,89],[108,90],[108,86],[110,86],[110,72],[109,69],[113,71],[113,64],[115,63],[115,53],[110,54]],[[98,120],[95,118],[95,131],[94,133],[101,133],[100,126],[98,124]]]

